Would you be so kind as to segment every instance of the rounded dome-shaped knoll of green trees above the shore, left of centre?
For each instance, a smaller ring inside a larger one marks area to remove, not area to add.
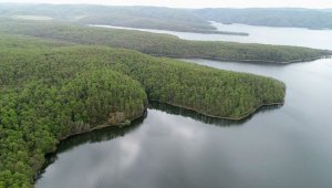
[[[122,112],[124,119],[115,123],[125,123],[145,109],[146,94],[141,84],[110,70],[85,72],[68,83],[63,93],[74,122],[100,125],[110,113]]]

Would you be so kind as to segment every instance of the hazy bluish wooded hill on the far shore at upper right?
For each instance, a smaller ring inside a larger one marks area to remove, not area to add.
[[[222,23],[332,29],[332,10],[329,9],[200,9],[195,12],[203,19]]]

